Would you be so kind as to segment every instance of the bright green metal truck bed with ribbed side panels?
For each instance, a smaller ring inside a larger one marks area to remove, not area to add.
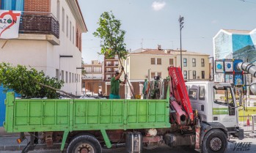
[[[15,99],[7,93],[7,133],[168,128],[169,100]]]

